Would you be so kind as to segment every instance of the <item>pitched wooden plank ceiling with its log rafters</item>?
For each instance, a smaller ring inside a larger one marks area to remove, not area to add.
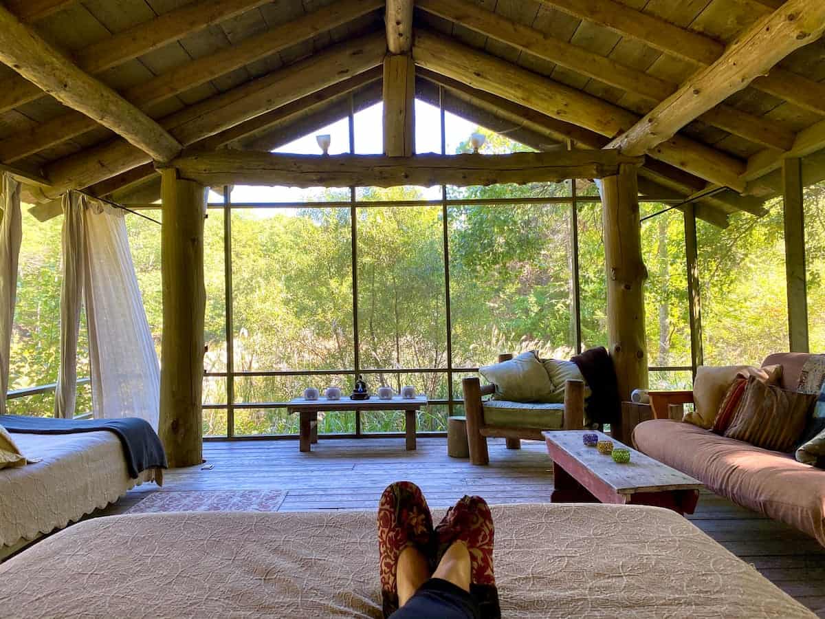
[[[417,96],[469,120],[538,149],[647,154],[640,187],[660,197],[728,187],[697,210],[715,224],[761,215],[782,159],[825,147],[822,2],[415,0],[412,24],[405,4],[6,0],[0,42],[41,37],[71,70],[52,96],[0,65],[0,162],[48,201],[145,187],[168,148],[275,148],[345,116],[351,96],[379,101],[388,36],[394,53],[412,42]],[[71,98],[95,80],[132,104],[132,133]]]

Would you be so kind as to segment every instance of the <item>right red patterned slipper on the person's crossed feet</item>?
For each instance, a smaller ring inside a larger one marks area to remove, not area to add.
[[[481,497],[464,496],[451,507],[436,527],[436,565],[454,541],[464,541],[469,550],[470,585],[483,619],[501,619],[498,590],[493,575],[493,514]]]

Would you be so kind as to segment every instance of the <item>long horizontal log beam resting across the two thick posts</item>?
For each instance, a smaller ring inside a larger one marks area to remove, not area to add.
[[[639,166],[642,158],[616,150],[573,150],[507,155],[420,154],[290,155],[218,150],[179,157],[169,163],[181,178],[205,187],[241,183],[291,187],[396,187],[399,185],[494,185],[559,182],[566,178],[601,178],[620,166]]]

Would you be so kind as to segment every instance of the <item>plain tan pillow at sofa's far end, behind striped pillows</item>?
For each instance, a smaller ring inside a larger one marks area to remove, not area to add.
[[[782,366],[699,366],[693,381],[693,410],[682,421],[709,430],[713,428],[719,404],[737,376],[756,376],[767,385],[775,385],[782,376]]]

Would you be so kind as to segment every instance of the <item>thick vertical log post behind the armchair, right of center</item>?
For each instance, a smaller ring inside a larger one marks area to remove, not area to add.
[[[617,176],[607,177],[602,183],[607,338],[620,398],[629,401],[632,390],[648,387],[643,295],[648,271],[642,261],[636,168],[622,164]]]

